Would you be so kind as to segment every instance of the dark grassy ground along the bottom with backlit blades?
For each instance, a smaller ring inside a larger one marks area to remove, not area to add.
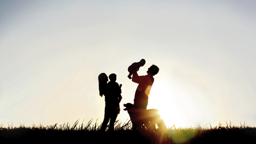
[[[216,127],[179,128],[167,131],[132,131],[131,122],[116,122],[115,131],[100,131],[100,125],[43,125],[0,127],[0,139],[8,142],[47,143],[256,143],[256,127],[219,125]]]

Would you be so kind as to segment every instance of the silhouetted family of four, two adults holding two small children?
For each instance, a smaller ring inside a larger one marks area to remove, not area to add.
[[[148,95],[150,93],[152,84],[154,83],[153,76],[159,72],[159,68],[156,65],[152,65],[148,68],[146,76],[138,76],[137,72],[140,67],[143,67],[143,65],[145,65],[145,60],[141,59],[139,62],[132,63],[132,65],[128,67],[129,79],[132,79],[132,82],[134,83],[138,83],[138,87],[134,95],[134,104],[132,105],[132,115],[136,116],[137,119],[140,119],[142,115],[145,115],[148,105]],[[98,80],[100,97],[103,95],[105,97],[105,114],[101,130],[106,131],[106,127],[110,120],[109,131],[113,131],[116,118],[120,113],[122,84],[119,85],[116,83],[116,74],[110,74],[110,81],[108,82],[108,76],[105,73],[101,73]],[[131,120],[132,119],[134,118],[131,118]],[[134,124],[136,123],[132,122],[132,129],[137,129],[138,127],[134,127]]]

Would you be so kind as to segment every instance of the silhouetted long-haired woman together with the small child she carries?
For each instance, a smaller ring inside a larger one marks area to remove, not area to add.
[[[108,82],[108,76],[106,76],[106,74],[103,73],[102,76],[99,76],[99,77],[104,77],[102,81],[100,81],[100,78],[99,78],[99,90],[102,90],[102,93],[105,96],[105,114],[104,114],[104,120],[102,122],[101,130],[102,131],[106,130],[106,127],[110,120],[109,131],[113,131],[116,117],[120,113],[119,103],[122,100],[122,96],[120,94],[122,84],[120,84],[119,86],[119,84],[115,82],[116,74],[109,75],[109,79],[110,79],[109,82]],[[104,86],[104,88],[102,88],[101,86]]]

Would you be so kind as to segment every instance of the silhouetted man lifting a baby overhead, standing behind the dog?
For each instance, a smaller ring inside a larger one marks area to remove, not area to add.
[[[159,72],[156,65],[148,68],[146,76],[138,76],[137,71],[133,73],[132,81],[138,83],[134,97],[134,107],[140,110],[146,110],[148,105],[148,95],[150,93],[154,77]]]

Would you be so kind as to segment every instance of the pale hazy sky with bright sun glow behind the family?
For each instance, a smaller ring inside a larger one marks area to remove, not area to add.
[[[97,77],[115,73],[123,104],[160,68],[148,109],[166,125],[256,126],[255,1],[0,1],[0,122],[100,124]],[[121,111],[118,120],[129,119]]]

